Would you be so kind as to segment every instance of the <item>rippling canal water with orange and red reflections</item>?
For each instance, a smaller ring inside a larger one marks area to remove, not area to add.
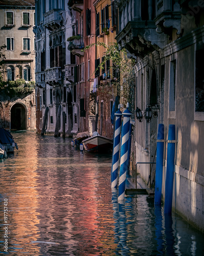
[[[12,135],[19,150],[0,162],[1,255],[204,254],[203,234],[146,195],[117,203],[111,155],[35,131]]]

